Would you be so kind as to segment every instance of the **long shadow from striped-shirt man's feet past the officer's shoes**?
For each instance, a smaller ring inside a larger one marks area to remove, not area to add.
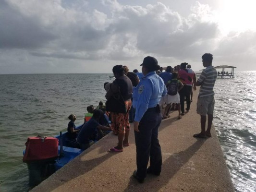
[[[168,184],[173,176],[185,165],[189,159],[194,156],[196,151],[204,144],[206,140],[197,140],[186,150],[174,153],[168,157],[162,164],[162,172],[160,176],[147,175],[143,184],[130,177],[127,188],[124,192],[131,191],[155,191],[160,190],[164,185]],[[159,182],[160,180],[160,182]]]

